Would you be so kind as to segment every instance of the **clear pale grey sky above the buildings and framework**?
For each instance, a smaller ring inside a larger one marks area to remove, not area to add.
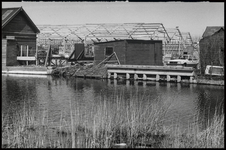
[[[21,6],[36,25],[162,23],[192,37],[224,26],[223,2],[2,2],[2,8]]]

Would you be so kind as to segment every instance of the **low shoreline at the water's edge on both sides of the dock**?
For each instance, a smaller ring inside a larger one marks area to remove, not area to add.
[[[55,69],[53,67],[44,67],[44,66],[3,67],[2,74],[54,75],[54,76],[74,76],[78,78],[91,78],[91,79],[108,79],[106,75],[107,74],[106,67],[95,68],[90,66],[77,66],[77,65],[58,67]],[[159,82],[159,81],[156,81],[156,82]],[[167,82],[167,81],[164,81],[164,82]],[[186,80],[182,80],[181,83],[189,83],[189,82]],[[205,78],[203,76],[200,76],[200,77],[197,76],[196,82],[193,82],[190,84],[224,86],[224,80],[222,79],[214,80],[214,79]]]

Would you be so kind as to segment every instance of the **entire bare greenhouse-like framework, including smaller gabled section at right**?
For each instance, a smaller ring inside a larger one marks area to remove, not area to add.
[[[162,40],[163,55],[180,55],[192,45],[190,33],[179,28],[166,29],[162,23],[102,23],[77,25],[37,25],[40,30],[37,45],[59,45],[64,52],[73,49],[75,43],[92,45],[122,39]]]

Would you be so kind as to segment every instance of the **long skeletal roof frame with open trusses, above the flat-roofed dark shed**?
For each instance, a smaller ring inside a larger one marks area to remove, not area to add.
[[[165,40],[170,37],[162,23],[101,23],[77,25],[37,25],[38,39],[73,39],[106,42],[121,39]]]

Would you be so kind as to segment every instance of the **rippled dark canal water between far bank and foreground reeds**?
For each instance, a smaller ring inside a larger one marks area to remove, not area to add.
[[[165,126],[178,123],[181,128],[186,128],[189,123],[198,119],[206,122],[200,127],[202,130],[214,119],[214,114],[224,113],[223,86],[45,75],[2,75],[3,116],[13,116],[25,109],[34,109],[37,115],[43,115],[44,118],[47,117],[44,112],[48,112],[48,120],[59,124],[62,119],[70,120],[70,110],[76,106],[80,113],[89,114],[92,113],[89,112],[91,104],[100,105],[102,102],[112,101],[112,109],[116,109],[113,107],[113,99],[121,101],[121,104],[125,101],[123,104],[126,104],[134,97],[139,101],[137,105],[144,109],[147,109],[147,105],[161,101],[167,109],[163,119]],[[74,113],[77,111],[73,110]]]

